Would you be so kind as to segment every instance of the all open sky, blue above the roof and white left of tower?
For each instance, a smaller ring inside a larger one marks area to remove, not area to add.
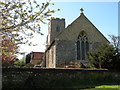
[[[66,27],[80,16],[80,8],[84,9],[85,16],[96,26],[96,28],[109,40],[108,35],[118,35],[118,2],[54,2],[50,9],[60,9],[52,14],[56,18],[65,18]],[[43,36],[35,34],[32,39],[37,46],[20,47],[21,52],[28,54],[34,52],[44,52],[48,25],[41,23]],[[19,56],[21,58],[22,56]]]

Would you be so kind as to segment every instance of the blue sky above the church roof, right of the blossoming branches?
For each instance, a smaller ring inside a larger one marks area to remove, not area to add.
[[[60,8],[56,17],[65,18],[70,24],[84,9],[87,18],[104,34],[118,34],[118,3],[117,2],[58,2],[53,8]]]

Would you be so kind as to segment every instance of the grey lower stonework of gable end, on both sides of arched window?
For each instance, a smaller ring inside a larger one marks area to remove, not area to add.
[[[90,43],[89,50],[95,50],[101,43]],[[56,66],[63,67],[69,62],[76,62],[77,60],[77,46],[76,41],[72,40],[59,40],[56,41]],[[81,60],[83,64],[87,64],[86,60]]]

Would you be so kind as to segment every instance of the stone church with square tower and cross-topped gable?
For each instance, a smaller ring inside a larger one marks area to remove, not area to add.
[[[87,64],[87,53],[109,43],[103,34],[84,15],[65,28],[65,19],[52,19],[48,24],[45,51],[46,67],[64,67],[69,62]]]

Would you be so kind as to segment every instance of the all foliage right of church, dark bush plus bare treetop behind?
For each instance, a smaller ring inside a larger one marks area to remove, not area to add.
[[[119,36],[109,35],[110,44],[101,45],[88,54],[89,65],[94,68],[108,68],[120,71]]]

